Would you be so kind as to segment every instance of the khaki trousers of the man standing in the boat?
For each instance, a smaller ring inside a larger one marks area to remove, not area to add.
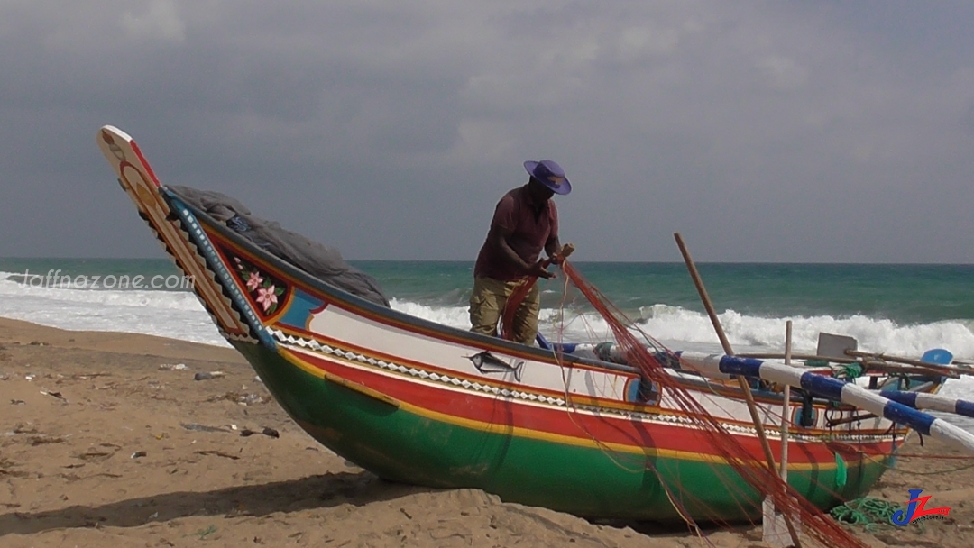
[[[490,277],[474,277],[473,294],[470,295],[470,331],[497,337],[497,325],[504,314],[507,298],[521,283],[522,280],[500,281]],[[539,311],[541,291],[535,283],[521,306],[514,312],[514,341],[529,346],[535,344]]]

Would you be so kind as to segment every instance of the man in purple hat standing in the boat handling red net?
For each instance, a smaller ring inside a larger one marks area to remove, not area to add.
[[[519,286],[538,277],[554,276],[545,270],[542,249],[548,261],[560,264],[558,209],[551,197],[572,192],[565,170],[550,160],[525,162],[531,178],[498,201],[487,239],[473,267],[473,294],[470,296],[470,331],[497,336],[498,322],[507,299]],[[510,322],[511,338],[533,345],[538,334],[541,292],[532,284],[517,305]]]

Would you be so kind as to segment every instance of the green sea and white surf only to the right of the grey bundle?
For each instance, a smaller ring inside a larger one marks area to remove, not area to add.
[[[359,262],[393,298],[393,308],[468,326],[468,262]],[[720,344],[682,263],[577,263],[581,274],[649,335],[675,349]],[[859,348],[918,356],[945,347],[974,358],[974,266],[698,264],[735,351],[782,351],[792,320],[795,351],[818,333],[855,337]],[[549,339],[604,338],[606,323],[566,291],[542,284],[542,332]]]

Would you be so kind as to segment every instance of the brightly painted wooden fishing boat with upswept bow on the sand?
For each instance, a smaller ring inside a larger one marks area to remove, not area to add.
[[[768,493],[741,477],[726,448],[715,447],[725,444],[705,435],[674,396],[677,388],[690,394],[743,448],[738,460],[763,463],[745,388],[729,375],[749,380],[771,453],[789,444],[791,495],[818,509],[868,492],[911,426],[944,432],[935,420],[919,423],[926,416],[914,409],[898,423],[840,394],[857,386],[871,398],[869,384],[891,380],[899,391],[934,393],[947,378],[941,370],[864,370],[870,375],[860,371],[854,381],[842,379],[845,366],[799,371],[671,352],[669,383],[615,359],[611,345],[528,347],[394,311],[282,260],[161,184],[120,129],[101,128],[97,142],[138,214],[194,279],[220,333],[284,411],[381,478],[477,488],[588,518],[758,519]],[[787,401],[785,383],[795,385]]]

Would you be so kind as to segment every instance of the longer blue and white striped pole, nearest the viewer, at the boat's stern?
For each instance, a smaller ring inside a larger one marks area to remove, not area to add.
[[[680,354],[680,362],[705,375],[743,375],[771,383],[798,386],[818,397],[841,401],[974,453],[974,434],[945,420],[886,399],[879,393],[854,383],[845,383],[779,362],[738,356],[683,352]]]

